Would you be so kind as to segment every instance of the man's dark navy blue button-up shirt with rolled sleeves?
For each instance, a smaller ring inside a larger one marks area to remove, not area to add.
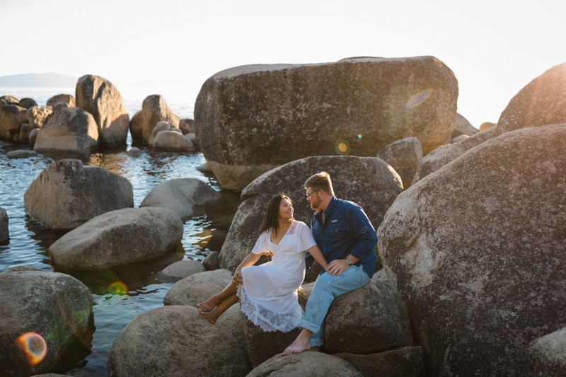
[[[356,265],[362,265],[371,278],[376,269],[377,235],[374,226],[362,207],[347,200],[332,197],[324,211],[316,212],[311,219],[311,230],[327,262],[344,259],[348,254],[358,257]],[[324,269],[320,271],[322,274]]]

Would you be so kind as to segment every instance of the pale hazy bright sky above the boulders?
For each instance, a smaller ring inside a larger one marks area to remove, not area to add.
[[[0,0],[0,76],[96,74],[194,105],[243,64],[432,55],[458,79],[458,112],[497,122],[521,88],[566,62],[563,1]]]

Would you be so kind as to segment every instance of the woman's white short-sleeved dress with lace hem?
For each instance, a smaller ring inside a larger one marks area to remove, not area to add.
[[[305,277],[305,250],[316,245],[311,229],[294,220],[279,244],[271,242],[271,231],[260,234],[252,253],[271,251],[271,262],[242,269],[238,287],[241,311],[264,331],[289,332],[301,325],[303,309],[297,289]]]

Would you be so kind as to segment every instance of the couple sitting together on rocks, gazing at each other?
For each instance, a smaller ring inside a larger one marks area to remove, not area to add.
[[[241,311],[262,330],[289,332],[300,325],[302,330],[285,355],[318,350],[334,298],[364,286],[376,266],[377,236],[362,208],[337,199],[326,172],[308,178],[305,190],[315,211],[311,229],[293,218],[289,197],[272,197],[251,253],[230,284],[198,307],[199,317],[214,324],[239,297]],[[323,269],[303,315],[297,289],[305,277],[305,250]],[[272,256],[271,262],[254,266],[261,255]]]

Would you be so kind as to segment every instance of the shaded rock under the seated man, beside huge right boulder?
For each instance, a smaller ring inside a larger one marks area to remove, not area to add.
[[[407,308],[380,280],[338,296],[330,306],[325,352],[374,354],[406,346],[412,346]]]

